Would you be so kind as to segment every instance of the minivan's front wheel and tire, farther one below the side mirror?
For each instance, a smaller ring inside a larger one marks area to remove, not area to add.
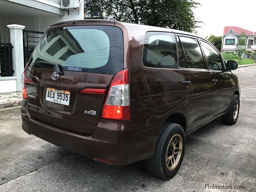
[[[233,95],[230,101],[228,112],[225,115],[221,116],[222,122],[224,124],[229,124],[229,125],[235,124],[238,118],[239,108],[240,108],[239,96]]]

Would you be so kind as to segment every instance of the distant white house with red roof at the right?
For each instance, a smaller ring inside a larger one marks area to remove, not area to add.
[[[246,51],[249,53],[255,52],[256,32],[248,31],[236,26],[224,27],[221,52],[234,53],[236,51],[236,44],[239,39],[241,39],[242,32],[245,33]],[[244,58],[247,58],[246,54],[244,54]]]

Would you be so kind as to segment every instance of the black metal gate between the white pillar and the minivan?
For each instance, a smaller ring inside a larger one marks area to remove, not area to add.
[[[42,37],[44,32],[41,31],[30,31],[23,30],[23,54],[24,54],[24,66],[28,62],[29,58],[32,55],[36,45]]]

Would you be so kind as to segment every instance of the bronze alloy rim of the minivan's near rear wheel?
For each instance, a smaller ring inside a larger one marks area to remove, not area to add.
[[[166,167],[169,171],[175,169],[180,161],[182,153],[182,138],[180,134],[175,134],[170,140],[166,150]]]

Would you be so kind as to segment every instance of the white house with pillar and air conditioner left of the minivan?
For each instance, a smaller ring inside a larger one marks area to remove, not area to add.
[[[83,0],[0,0],[0,93],[21,91],[24,63],[49,25],[79,19]]]

